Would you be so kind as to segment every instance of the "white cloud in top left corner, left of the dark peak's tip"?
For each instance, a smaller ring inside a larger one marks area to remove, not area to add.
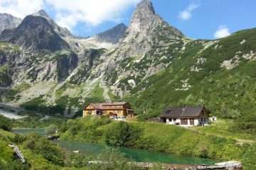
[[[24,18],[39,11],[43,8],[43,4],[43,0],[0,0],[0,12]]]

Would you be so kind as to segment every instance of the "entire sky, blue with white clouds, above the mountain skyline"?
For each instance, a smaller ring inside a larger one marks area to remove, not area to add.
[[[140,0],[0,0],[1,13],[20,18],[43,8],[75,35],[94,35],[129,25]],[[151,0],[156,13],[189,38],[215,39],[256,28],[255,0]]]

